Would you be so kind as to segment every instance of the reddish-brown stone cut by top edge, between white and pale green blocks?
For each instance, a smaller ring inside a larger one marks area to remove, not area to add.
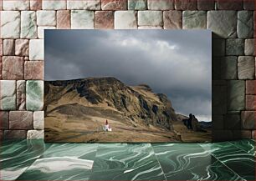
[[[101,0],[102,10],[126,10],[127,0]]]

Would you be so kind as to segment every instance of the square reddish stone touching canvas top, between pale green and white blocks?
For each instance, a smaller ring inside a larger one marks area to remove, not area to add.
[[[95,28],[113,29],[114,28],[114,12],[96,11],[95,12]]]

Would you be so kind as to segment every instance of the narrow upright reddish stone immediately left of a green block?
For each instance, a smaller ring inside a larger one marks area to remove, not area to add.
[[[18,110],[26,110],[26,81],[17,81],[17,108]]]

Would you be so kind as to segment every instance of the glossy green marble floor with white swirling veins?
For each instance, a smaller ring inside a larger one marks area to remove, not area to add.
[[[255,141],[1,143],[0,180],[255,180]]]

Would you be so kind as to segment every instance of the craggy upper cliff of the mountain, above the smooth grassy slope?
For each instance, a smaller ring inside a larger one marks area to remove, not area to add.
[[[84,108],[104,108],[120,113],[131,123],[167,130],[172,130],[172,122],[177,120],[166,95],[153,93],[144,84],[127,86],[116,78],[84,78],[45,81],[44,87],[46,113],[78,103]]]

